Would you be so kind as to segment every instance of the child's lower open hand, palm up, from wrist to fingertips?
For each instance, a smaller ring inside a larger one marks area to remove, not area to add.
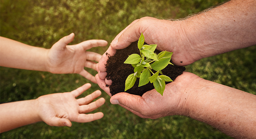
[[[104,98],[94,102],[94,99],[101,95],[99,90],[87,95],[84,98],[75,99],[84,91],[90,88],[87,83],[72,92],[55,93],[40,96],[37,99],[38,114],[42,121],[50,126],[71,126],[73,122],[86,123],[103,117],[103,113],[89,113],[105,103]]]

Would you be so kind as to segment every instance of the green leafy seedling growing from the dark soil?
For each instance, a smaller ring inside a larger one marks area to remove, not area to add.
[[[140,78],[139,87],[150,82],[153,83],[156,91],[163,95],[163,91],[166,85],[165,82],[173,82],[170,77],[162,75],[161,71],[168,64],[172,64],[170,60],[173,52],[163,51],[159,54],[156,54],[154,53],[156,46],[156,44],[144,45],[144,36],[141,33],[138,41],[140,55],[129,55],[126,61],[124,61],[125,64],[132,64],[134,67],[134,73],[130,74],[125,81],[124,91],[132,88],[136,79]],[[155,70],[156,73],[154,73],[152,69]]]

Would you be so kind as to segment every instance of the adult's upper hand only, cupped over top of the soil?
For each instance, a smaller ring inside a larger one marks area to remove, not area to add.
[[[200,51],[196,50],[196,45],[193,43],[195,40],[193,30],[188,30],[185,23],[185,21],[159,20],[153,17],[143,17],[133,21],[115,37],[106,53],[102,55],[98,64],[99,78],[106,78],[105,64],[108,56],[114,55],[116,49],[126,48],[132,42],[139,40],[141,32],[147,44],[157,44],[156,49],[173,52],[171,57],[173,64],[184,66],[201,59]],[[106,80],[106,83],[111,84],[111,81]]]

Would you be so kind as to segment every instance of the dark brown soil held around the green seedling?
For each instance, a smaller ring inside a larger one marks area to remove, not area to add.
[[[138,41],[135,41],[127,48],[116,50],[115,55],[108,57],[107,64],[106,64],[106,69],[107,69],[106,77],[108,80],[112,80],[112,85],[109,86],[110,93],[112,95],[120,92],[124,92],[126,78],[130,74],[134,73],[133,66],[131,64],[124,64],[123,62],[131,54],[134,54],[134,53],[140,54],[140,51],[137,47],[137,42]],[[155,53],[159,53],[159,52],[157,52],[156,50]],[[186,70],[185,67],[178,67],[176,65],[168,64],[168,66],[162,70],[162,73],[163,75],[169,76],[172,80],[175,80],[176,77],[181,75],[184,70]],[[154,70],[152,71],[155,73]],[[166,82],[166,84],[168,83],[170,82]],[[126,92],[130,94],[142,96],[147,91],[154,89],[153,83],[150,83],[150,82],[146,85],[143,85],[140,87],[138,86],[139,86],[139,78],[137,78],[134,86],[129,90],[127,90]]]

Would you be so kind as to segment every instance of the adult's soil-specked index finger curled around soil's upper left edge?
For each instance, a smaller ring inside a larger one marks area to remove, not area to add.
[[[115,52],[116,52],[115,49],[113,49],[112,47],[108,47],[106,53],[101,56],[101,59],[99,61],[98,68],[100,71],[102,71],[102,72],[106,71],[105,67],[107,64],[108,57],[113,56],[115,54]]]

